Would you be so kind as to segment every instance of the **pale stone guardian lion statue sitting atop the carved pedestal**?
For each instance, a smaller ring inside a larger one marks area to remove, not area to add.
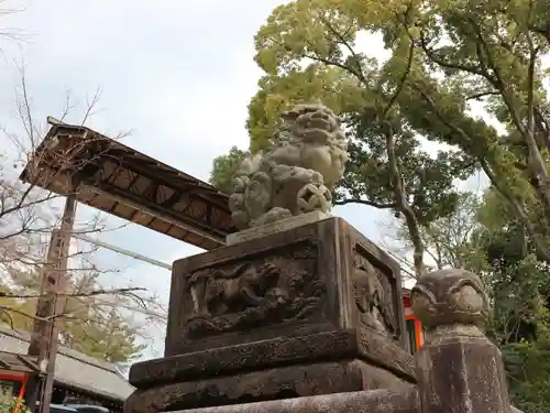
[[[348,161],[340,119],[322,105],[298,105],[282,121],[273,145],[237,171],[229,206],[239,228],[332,206],[331,191]]]

